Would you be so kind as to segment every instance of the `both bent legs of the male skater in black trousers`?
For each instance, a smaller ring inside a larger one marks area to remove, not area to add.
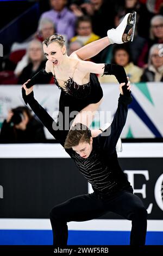
[[[130,245],[145,245],[147,211],[141,199],[128,191],[118,192],[112,199],[99,199],[95,193],[85,194],[55,206],[50,213],[53,244],[67,245],[67,222],[92,220],[109,211],[132,221]]]

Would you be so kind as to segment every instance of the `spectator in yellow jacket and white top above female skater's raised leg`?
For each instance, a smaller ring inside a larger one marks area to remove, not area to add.
[[[79,17],[76,23],[77,35],[71,39],[71,42],[76,40],[82,41],[83,45],[98,40],[100,37],[92,32],[92,22],[89,16]]]

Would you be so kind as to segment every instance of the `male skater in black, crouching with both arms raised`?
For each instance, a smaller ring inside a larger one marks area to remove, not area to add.
[[[130,89],[129,84],[123,86],[124,83],[121,83],[118,108],[111,126],[104,131],[105,136],[101,133],[92,138],[86,126],[76,124],[68,132],[65,141],[66,133],[53,130],[54,120],[34,99],[33,87],[28,89],[26,84],[23,85],[29,106],[49,132],[65,147],[94,191],[73,197],[52,209],[50,220],[54,246],[67,245],[67,222],[92,220],[109,211],[132,221],[130,245],[145,245],[147,211],[141,199],[133,194],[133,188],[118,164],[116,153],[116,143],[126,123],[128,104],[132,100],[129,90],[125,88],[128,86]]]

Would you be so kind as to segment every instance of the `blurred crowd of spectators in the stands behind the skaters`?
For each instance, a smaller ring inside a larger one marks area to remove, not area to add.
[[[67,54],[70,55],[80,47],[106,36],[108,29],[116,28],[123,17],[133,11],[137,13],[134,41],[110,45],[89,60],[124,66],[131,83],[163,81],[163,0],[48,0],[46,4],[41,0],[37,2],[40,3],[37,31],[27,40],[12,44],[7,56],[1,58],[0,84],[23,84],[44,68],[46,58],[42,41],[49,35],[64,35]],[[114,76],[102,76],[99,81],[116,82]],[[54,83],[53,77],[45,76],[44,80],[39,81],[39,84],[47,83]],[[21,109],[22,113],[26,110]],[[13,115],[14,112],[11,113]],[[22,126],[13,122],[11,113],[10,119],[8,117],[4,121],[1,130],[3,138],[4,130],[9,131],[9,124],[10,132],[16,136],[14,138],[21,140],[22,134],[28,137],[26,130],[32,127],[33,118],[27,114],[28,123],[26,129],[24,126],[22,129]],[[34,126],[37,127],[37,124]],[[44,138],[40,131],[40,141]]]

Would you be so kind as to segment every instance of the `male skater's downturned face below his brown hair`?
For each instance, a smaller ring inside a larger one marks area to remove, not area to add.
[[[87,142],[80,142],[77,146],[72,147],[74,151],[76,151],[77,154],[79,154],[81,157],[86,159],[90,156],[92,151],[92,137],[90,138],[90,143]]]

